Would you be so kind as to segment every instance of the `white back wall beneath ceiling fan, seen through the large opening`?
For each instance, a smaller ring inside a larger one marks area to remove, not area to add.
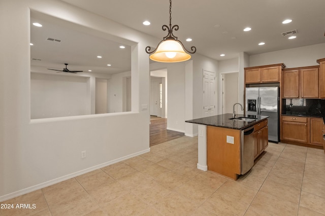
[[[90,114],[89,77],[31,73],[30,118]]]

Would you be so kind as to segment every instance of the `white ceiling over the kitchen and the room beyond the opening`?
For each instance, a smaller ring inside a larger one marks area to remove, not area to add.
[[[169,25],[168,0],[62,1],[150,34],[157,41],[167,35],[161,26]],[[325,43],[324,9],[324,0],[174,0],[172,25],[179,25],[179,30],[174,31],[174,34],[187,49],[196,46],[197,53],[224,60],[236,58],[241,52],[254,55]],[[33,19],[33,14],[31,18]],[[285,19],[293,21],[282,24]],[[150,21],[151,25],[143,25],[145,20]],[[130,47],[121,50],[118,48],[119,43],[69,29],[64,27],[67,25],[60,25],[61,21],[47,19],[46,22],[48,23],[43,24],[42,28],[31,27],[31,40],[35,39],[31,58],[42,58],[42,61],[32,60],[32,65],[47,63],[48,67],[61,69],[63,63],[69,63],[69,69],[95,68],[93,71],[98,70],[100,73],[118,73],[131,69]],[[252,30],[244,32],[243,29],[248,26]],[[294,40],[281,35],[282,32],[294,29],[298,30]],[[46,44],[44,38],[47,37],[62,40],[60,47]],[[193,41],[186,42],[186,38],[192,38]],[[36,41],[41,40],[42,46],[37,48]],[[87,43],[83,43],[85,41]],[[259,42],[266,44],[259,46]],[[94,58],[98,53],[114,54],[100,62]],[[225,56],[220,57],[220,54]],[[99,62],[103,64],[98,64]],[[112,64],[110,68],[106,66],[108,63]],[[59,64],[62,66],[57,68]]]

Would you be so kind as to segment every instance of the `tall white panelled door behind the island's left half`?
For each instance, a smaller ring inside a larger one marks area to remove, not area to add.
[[[215,75],[213,72],[203,71],[203,117],[215,114]]]

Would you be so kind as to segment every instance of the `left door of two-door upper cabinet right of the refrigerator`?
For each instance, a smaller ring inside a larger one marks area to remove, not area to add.
[[[283,71],[282,92],[284,98],[299,97],[299,70]]]

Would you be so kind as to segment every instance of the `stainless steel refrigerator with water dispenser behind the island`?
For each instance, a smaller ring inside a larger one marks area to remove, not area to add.
[[[279,142],[279,87],[246,87],[245,114],[269,116],[269,141]]]

